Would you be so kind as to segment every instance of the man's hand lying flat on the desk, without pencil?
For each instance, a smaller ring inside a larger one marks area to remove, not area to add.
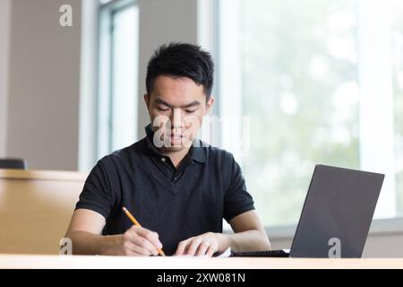
[[[199,236],[179,242],[175,256],[206,256],[212,257],[215,252],[221,251],[225,235],[220,233],[207,232]]]

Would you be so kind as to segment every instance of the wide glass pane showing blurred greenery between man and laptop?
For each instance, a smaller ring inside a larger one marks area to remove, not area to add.
[[[359,168],[354,1],[240,4],[244,175],[265,225],[296,224],[315,163]]]

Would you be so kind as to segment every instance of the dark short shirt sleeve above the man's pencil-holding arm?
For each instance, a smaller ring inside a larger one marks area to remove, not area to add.
[[[90,209],[107,219],[113,206],[114,196],[107,178],[107,170],[101,160],[90,171],[75,209]]]

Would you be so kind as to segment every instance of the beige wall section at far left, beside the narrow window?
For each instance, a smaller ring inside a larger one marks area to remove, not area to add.
[[[73,27],[59,25],[62,4]],[[13,0],[11,11],[7,155],[77,170],[81,1]]]

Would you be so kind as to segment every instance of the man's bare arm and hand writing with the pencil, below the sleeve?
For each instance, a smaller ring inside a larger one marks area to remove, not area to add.
[[[65,234],[72,240],[73,254],[81,255],[158,255],[162,245],[156,232],[133,226],[124,234],[102,236],[105,218],[89,209],[77,209]]]

